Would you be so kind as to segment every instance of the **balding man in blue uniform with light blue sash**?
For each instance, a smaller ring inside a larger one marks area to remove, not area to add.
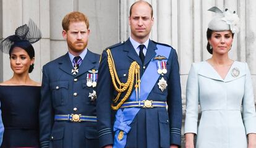
[[[175,49],[149,39],[153,10],[130,7],[130,38],[103,51],[98,79],[100,147],[179,147],[181,84]],[[166,107],[168,104],[168,110]]]

